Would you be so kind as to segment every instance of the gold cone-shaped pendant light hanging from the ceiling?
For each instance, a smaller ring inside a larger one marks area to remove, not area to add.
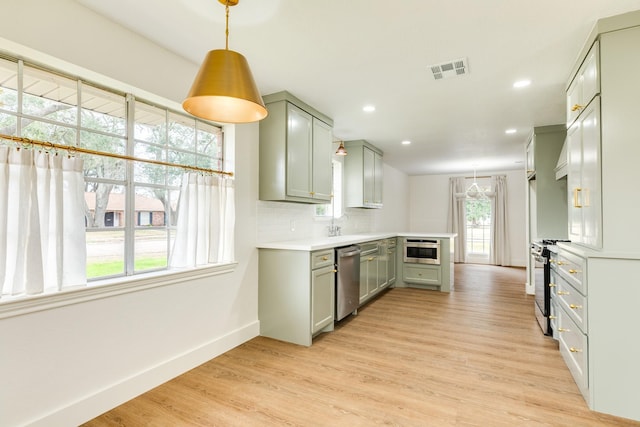
[[[225,5],[225,48],[212,50],[204,58],[182,103],[186,112],[221,123],[249,123],[267,117],[260,92],[246,58],[229,50],[229,6],[239,0],[218,0]]]

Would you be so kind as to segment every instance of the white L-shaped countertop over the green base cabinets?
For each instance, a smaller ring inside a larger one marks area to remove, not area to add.
[[[370,242],[372,240],[388,239],[392,237],[422,237],[449,239],[456,237],[456,233],[423,233],[423,232],[402,232],[402,233],[367,233],[348,234],[335,237],[311,237],[300,240],[287,240],[279,242],[258,243],[258,249],[282,249],[290,251],[317,251],[320,249],[339,248],[358,243]]]

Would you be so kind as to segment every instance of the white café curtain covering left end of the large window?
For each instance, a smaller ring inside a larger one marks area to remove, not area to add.
[[[83,161],[0,147],[1,294],[86,285]]]

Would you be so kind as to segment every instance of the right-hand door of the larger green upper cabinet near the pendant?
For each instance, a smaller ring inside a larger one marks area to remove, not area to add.
[[[313,118],[312,192],[314,199],[331,200],[333,135],[331,126]]]

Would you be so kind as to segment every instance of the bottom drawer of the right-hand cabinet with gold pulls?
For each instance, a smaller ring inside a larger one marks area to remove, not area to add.
[[[587,399],[589,389],[587,336],[580,331],[563,309],[558,310],[557,320],[560,354],[582,395]]]

